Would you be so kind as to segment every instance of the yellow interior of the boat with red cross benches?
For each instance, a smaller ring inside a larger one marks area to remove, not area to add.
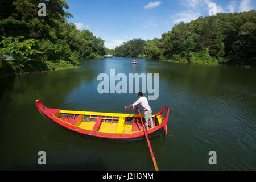
[[[100,133],[128,134],[143,131],[139,114],[60,110],[54,115],[54,117],[80,129],[97,131]],[[145,123],[143,114],[142,120],[143,123]],[[152,115],[152,120],[154,127],[157,127],[163,122],[164,119],[159,114]],[[148,125],[150,126],[150,122],[148,122]]]

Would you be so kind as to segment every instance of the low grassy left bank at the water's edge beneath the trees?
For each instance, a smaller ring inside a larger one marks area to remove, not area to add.
[[[28,61],[21,68],[14,59],[3,59],[3,68],[0,69],[0,79],[12,77],[20,73],[36,73],[47,71],[58,71],[62,69],[77,69],[79,62],[73,61]]]

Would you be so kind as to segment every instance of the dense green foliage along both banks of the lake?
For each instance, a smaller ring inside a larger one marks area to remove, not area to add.
[[[38,4],[46,16],[38,16]],[[160,39],[133,39],[115,49],[89,30],[77,30],[65,0],[1,0],[0,53],[13,55],[18,72],[33,61],[94,59],[110,54],[181,63],[256,65],[256,11],[218,13],[175,24]],[[62,63],[62,62],[58,62]],[[37,64],[39,65],[39,64]],[[49,65],[49,64],[47,64]],[[56,64],[58,65],[58,64]],[[63,64],[64,65],[64,64]]]

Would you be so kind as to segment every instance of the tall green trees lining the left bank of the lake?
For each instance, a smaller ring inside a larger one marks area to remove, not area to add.
[[[38,16],[39,3],[46,4],[46,16]],[[89,30],[77,30],[68,23],[64,0],[1,0],[0,53],[13,55],[22,69],[30,60],[69,61],[94,59],[105,54],[104,40]]]

